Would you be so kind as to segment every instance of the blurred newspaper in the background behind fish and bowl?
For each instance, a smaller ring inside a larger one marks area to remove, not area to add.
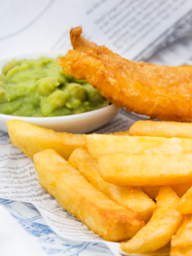
[[[177,65],[169,63],[175,54],[182,61],[191,57],[190,0],[1,0],[0,4],[1,58],[47,50],[65,53],[75,26],[82,26],[89,40],[130,60]],[[163,52],[165,58],[150,59],[174,42],[177,45]]]

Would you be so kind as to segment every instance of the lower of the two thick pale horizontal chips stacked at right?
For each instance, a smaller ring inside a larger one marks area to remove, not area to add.
[[[105,154],[98,158],[104,181],[119,187],[152,187],[192,183],[192,153]]]

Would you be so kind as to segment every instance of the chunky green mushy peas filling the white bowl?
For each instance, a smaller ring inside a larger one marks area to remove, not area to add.
[[[64,73],[57,65],[58,58],[12,60],[5,64],[0,75],[0,113],[67,116],[109,105],[91,84]]]

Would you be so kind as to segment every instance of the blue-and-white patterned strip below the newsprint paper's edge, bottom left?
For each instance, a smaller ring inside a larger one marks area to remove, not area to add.
[[[63,239],[46,225],[33,204],[0,199],[0,204],[12,214],[28,235],[48,255],[57,256],[111,256],[105,244],[77,242]]]

